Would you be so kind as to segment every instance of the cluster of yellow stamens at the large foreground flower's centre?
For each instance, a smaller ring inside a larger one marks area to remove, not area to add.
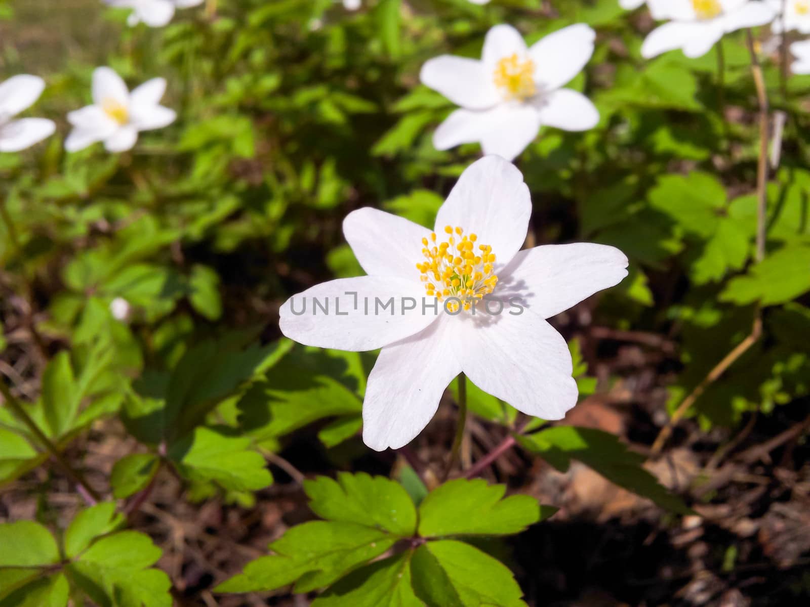
[[[445,233],[447,240],[439,244],[435,232],[430,240],[422,239],[426,261],[416,264],[416,269],[422,273],[420,280],[428,297],[439,301],[458,299],[447,302],[450,312],[456,312],[459,305],[469,310],[475,299],[484,299],[484,295],[495,291],[498,282],[498,277],[492,274],[495,253],[488,244],[478,244],[476,248],[478,236],[464,236],[460,227],[447,226]]]

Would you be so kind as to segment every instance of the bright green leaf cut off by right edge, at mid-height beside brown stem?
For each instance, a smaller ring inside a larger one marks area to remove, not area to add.
[[[743,306],[785,304],[810,291],[810,247],[787,246],[770,253],[748,274],[732,278],[720,294],[722,301]]]

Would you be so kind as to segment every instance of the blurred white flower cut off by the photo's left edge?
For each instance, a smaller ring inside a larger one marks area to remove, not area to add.
[[[18,118],[45,90],[39,76],[19,74],[0,84],[0,151],[21,151],[53,135],[56,125],[47,118]]]

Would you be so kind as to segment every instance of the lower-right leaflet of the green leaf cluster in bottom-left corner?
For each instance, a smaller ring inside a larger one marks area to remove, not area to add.
[[[150,569],[160,548],[137,531],[102,537],[67,570],[92,601],[104,607],[171,607],[168,575]]]

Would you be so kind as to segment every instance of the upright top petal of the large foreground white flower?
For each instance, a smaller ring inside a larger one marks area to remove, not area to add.
[[[439,209],[436,231],[462,227],[480,244],[492,245],[498,265],[505,265],[523,246],[530,216],[531,197],[520,171],[498,156],[485,156],[458,178]]]

